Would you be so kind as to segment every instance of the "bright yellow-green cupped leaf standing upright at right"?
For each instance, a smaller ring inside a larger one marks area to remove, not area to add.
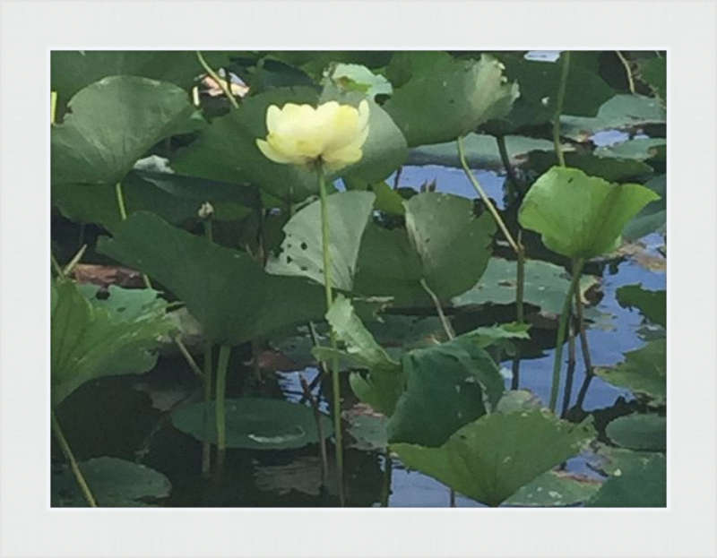
[[[616,250],[627,221],[659,196],[641,185],[611,185],[583,171],[553,167],[531,186],[518,219],[550,250],[589,259]]]

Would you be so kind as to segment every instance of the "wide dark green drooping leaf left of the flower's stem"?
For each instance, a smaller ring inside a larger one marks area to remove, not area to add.
[[[150,213],[131,215],[113,238],[100,238],[98,249],[170,289],[217,344],[237,345],[324,315],[323,288],[270,275],[249,254],[212,244]]]

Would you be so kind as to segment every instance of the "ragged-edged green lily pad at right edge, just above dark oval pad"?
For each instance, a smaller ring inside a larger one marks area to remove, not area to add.
[[[625,354],[625,362],[613,368],[597,368],[605,382],[664,402],[667,397],[667,339],[653,339],[643,348]]]

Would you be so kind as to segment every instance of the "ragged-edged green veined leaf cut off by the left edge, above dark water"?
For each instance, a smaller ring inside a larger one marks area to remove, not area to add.
[[[50,384],[56,407],[83,383],[100,376],[143,373],[157,361],[152,350],[173,329],[167,303],[156,291],[111,287],[107,301],[97,288],[69,280],[51,286]],[[82,291],[88,293],[83,295]]]

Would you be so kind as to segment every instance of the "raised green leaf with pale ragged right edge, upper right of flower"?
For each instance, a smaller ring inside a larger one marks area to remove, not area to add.
[[[473,132],[479,124],[505,116],[517,97],[518,87],[507,82],[502,64],[483,55],[478,61],[414,68],[384,109],[414,147]]]

